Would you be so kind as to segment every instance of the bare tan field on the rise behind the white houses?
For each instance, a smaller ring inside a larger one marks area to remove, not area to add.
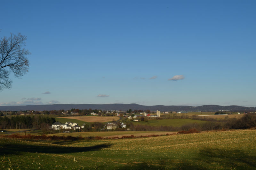
[[[119,117],[117,117],[117,116],[68,116],[68,117],[57,117],[57,118],[69,119],[69,120],[76,119],[76,120],[80,120],[83,122],[111,122],[113,120],[114,121],[119,120]]]

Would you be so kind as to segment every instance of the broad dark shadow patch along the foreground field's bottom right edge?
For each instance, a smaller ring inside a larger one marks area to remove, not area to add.
[[[155,158],[152,162],[120,165],[116,169],[256,169],[255,152],[250,154],[241,150],[203,148],[189,160],[171,157]]]

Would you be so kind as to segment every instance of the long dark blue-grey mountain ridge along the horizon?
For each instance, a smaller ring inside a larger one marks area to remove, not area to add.
[[[0,106],[2,111],[20,111],[20,110],[70,110],[76,109],[101,109],[101,110],[151,110],[151,111],[189,111],[189,112],[215,112],[219,110],[228,111],[256,111],[256,107],[244,107],[244,106],[219,106],[219,105],[203,105],[203,106],[143,106],[138,104],[53,104],[53,105],[27,105],[27,106]]]

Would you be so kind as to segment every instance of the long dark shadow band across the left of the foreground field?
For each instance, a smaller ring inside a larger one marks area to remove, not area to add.
[[[28,144],[1,144],[0,155],[22,155],[22,152],[31,153],[76,153],[76,152],[89,152],[98,151],[102,148],[108,148],[111,144],[99,144],[86,147],[65,147],[65,146],[40,146]]]

